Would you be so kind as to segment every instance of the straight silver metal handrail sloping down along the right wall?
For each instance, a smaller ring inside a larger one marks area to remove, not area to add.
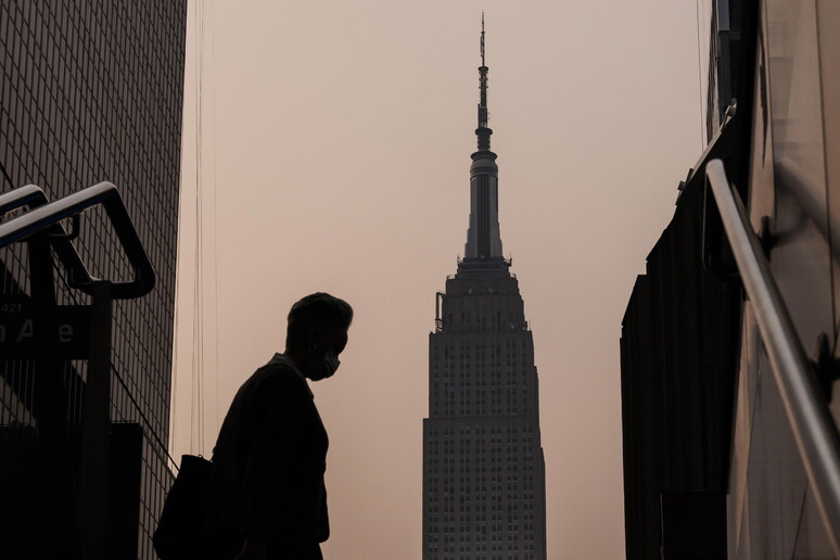
[[[709,162],[705,177],[752,303],[809,484],[835,557],[840,558],[840,436],[743,203],[726,178],[723,162]]]

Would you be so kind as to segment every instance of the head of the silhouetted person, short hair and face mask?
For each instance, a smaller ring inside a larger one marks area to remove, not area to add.
[[[323,292],[307,295],[289,311],[287,354],[314,381],[329,377],[338,367],[338,356],[347,344],[351,322],[353,308],[347,302]],[[333,360],[332,371],[324,372],[323,364]]]

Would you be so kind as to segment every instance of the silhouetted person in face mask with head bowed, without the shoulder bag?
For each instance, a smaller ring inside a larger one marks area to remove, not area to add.
[[[335,373],[352,320],[346,302],[307,295],[289,311],[285,351],[233,397],[213,451],[207,556],[322,558],[328,440],[306,379]]]

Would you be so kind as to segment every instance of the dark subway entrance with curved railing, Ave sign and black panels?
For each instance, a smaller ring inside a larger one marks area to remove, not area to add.
[[[76,251],[82,214],[96,206],[107,216],[132,269],[128,281],[94,278]],[[152,291],[154,268],[112,183],[53,202],[36,186],[22,187],[0,194],[0,217],[11,212],[21,215],[0,224],[0,247],[27,245],[29,293],[0,295],[0,358],[28,360],[34,368],[28,390],[37,395],[29,411],[37,430],[22,431],[37,440],[27,447],[34,455],[2,459],[8,472],[28,478],[38,488],[26,519],[15,520],[22,523],[21,533],[13,535],[22,542],[16,551],[40,558],[55,547],[33,542],[33,536],[50,535],[63,540],[63,558],[137,558],[142,431],[137,424],[111,423],[112,321],[114,300]],[[71,231],[63,226],[66,220]],[[53,253],[68,287],[87,294],[90,305],[58,305]],[[87,360],[80,427],[68,420],[60,374],[69,359]],[[112,476],[114,458],[132,454],[137,468],[117,469],[118,476]],[[15,460],[28,462],[9,468]],[[17,513],[5,514],[11,520]]]

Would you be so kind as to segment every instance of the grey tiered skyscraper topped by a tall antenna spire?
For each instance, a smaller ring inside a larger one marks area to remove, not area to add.
[[[423,420],[423,559],[545,559],[534,342],[501,252],[482,24],[464,257],[437,294]]]

